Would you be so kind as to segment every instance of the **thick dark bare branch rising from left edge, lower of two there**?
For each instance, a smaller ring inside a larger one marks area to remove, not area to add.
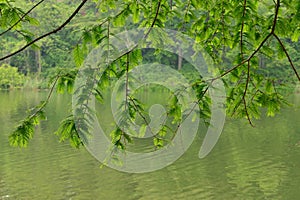
[[[7,58],[10,58],[20,52],[22,52],[23,50],[27,49],[28,47],[30,47],[32,44],[36,43],[37,41],[45,38],[45,37],[48,37],[49,35],[52,35],[52,34],[55,34],[57,33],[58,31],[60,31],[61,29],[63,29],[67,24],[69,24],[71,22],[71,20],[77,15],[77,13],[79,12],[79,10],[84,6],[84,4],[87,2],[87,0],[82,0],[81,4],[77,7],[77,9],[72,13],[72,15],[62,24],[60,25],[58,28],[44,34],[44,35],[41,35],[40,37],[32,40],[31,42],[27,43],[25,46],[23,46],[22,48],[18,49],[17,51],[11,53],[11,54],[8,54],[2,58],[0,58],[0,61],[1,60],[5,60]]]

